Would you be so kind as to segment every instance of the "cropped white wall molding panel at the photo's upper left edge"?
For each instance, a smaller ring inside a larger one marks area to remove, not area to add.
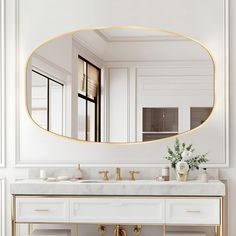
[[[5,114],[6,114],[6,49],[5,49],[5,38],[6,38],[6,19],[5,19],[5,0],[0,1],[1,9],[1,75],[0,75],[0,88],[1,88],[1,154],[0,154],[0,167],[5,167],[5,139],[6,139],[6,130],[5,130]]]

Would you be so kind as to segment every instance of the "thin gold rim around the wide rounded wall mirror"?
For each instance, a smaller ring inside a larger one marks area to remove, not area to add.
[[[177,36],[177,37],[181,37],[181,38],[185,38],[185,39],[188,39],[188,40],[191,40],[193,42],[195,42],[196,44],[198,44],[200,47],[204,48],[208,55],[210,56],[211,58],[211,61],[213,63],[213,88],[214,88],[214,92],[213,92],[213,107],[212,107],[212,111],[211,113],[209,114],[209,116],[207,117],[207,119],[202,123],[200,124],[199,126],[193,128],[193,129],[190,129],[190,130],[187,130],[187,131],[184,131],[180,134],[176,134],[176,135],[173,135],[173,136],[170,136],[170,137],[166,137],[166,138],[162,138],[162,139],[156,139],[156,140],[152,140],[152,141],[137,141],[137,142],[93,142],[93,141],[85,141],[85,140],[80,140],[80,139],[76,139],[76,138],[71,138],[71,137],[68,137],[68,136],[63,136],[61,134],[57,134],[55,132],[52,132],[52,131],[48,131],[44,128],[42,128],[33,118],[32,116],[30,115],[30,112],[29,112],[29,109],[28,109],[28,105],[27,105],[27,69],[28,69],[28,64],[29,64],[29,61],[31,59],[31,56],[34,54],[34,52],[40,48],[41,46],[43,46],[44,44],[48,43],[48,42],[51,42],[52,40],[54,39],[58,39],[58,38],[61,38],[63,36],[67,36],[67,35],[70,35],[70,34],[74,34],[74,33],[78,33],[78,32],[85,32],[85,31],[93,31],[93,30],[104,30],[104,29],[136,29],[136,30],[147,30],[147,31],[158,31],[158,32],[163,32],[163,33],[168,33],[168,34],[171,34],[171,35],[174,35],[174,36]],[[187,35],[184,35],[184,34],[180,34],[180,33],[177,33],[177,32],[173,32],[173,31],[170,31],[170,30],[165,30],[165,29],[161,29],[161,28],[148,28],[148,27],[143,27],[143,26],[102,26],[102,27],[94,27],[94,28],[81,28],[81,29],[78,29],[78,30],[74,30],[74,31],[71,31],[71,32],[67,32],[67,33],[64,33],[64,34],[61,34],[59,36],[55,36],[55,37],[52,37],[48,40],[45,40],[43,43],[41,43],[40,45],[38,45],[37,47],[35,47],[30,55],[28,56],[27,60],[26,60],[26,67],[25,67],[25,108],[26,108],[26,113],[27,115],[29,116],[29,118],[31,119],[31,121],[37,126],[40,128],[40,130],[46,132],[47,134],[52,134],[52,135],[55,135],[55,136],[58,136],[58,137],[62,137],[62,138],[66,138],[66,139],[69,139],[69,140],[73,140],[73,141],[76,141],[76,142],[82,142],[82,143],[92,143],[92,144],[118,144],[118,145],[129,145],[129,144],[145,144],[145,143],[153,143],[153,142],[161,142],[163,140],[167,140],[167,139],[175,139],[179,136],[182,136],[184,134],[187,134],[187,133],[190,133],[190,132],[193,132],[199,128],[201,128],[203,125],[206,124],[206,122],[209,120],[209,118],[211,117],[214,109],[215,109],[215,99],[216,99],[216,63],[215,63],[215,59],[213,57],[213,54],[211,53],[210,49],[204,45],[203,43],[201,43],[200,41],[198,41],[197,39],[194,39],[193,37],[191,36],[187,36]]]

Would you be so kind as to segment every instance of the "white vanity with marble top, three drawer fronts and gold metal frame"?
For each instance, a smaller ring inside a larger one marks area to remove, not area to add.
[[[220,181],[57,182],[11,184],[12,236],[17,224],[213,226],[223,236]],[[77,231],[75,230],[75,236]]]

